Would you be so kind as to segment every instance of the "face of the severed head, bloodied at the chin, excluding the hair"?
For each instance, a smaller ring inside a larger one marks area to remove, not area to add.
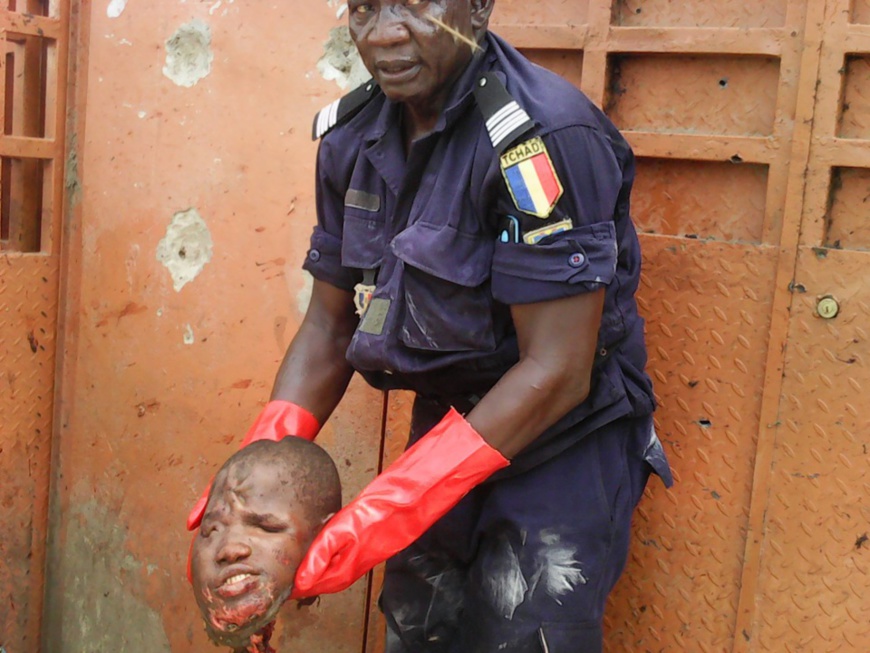
[[[290,480],[281,465],[263,463],[235,464],[215,479],[191,558],[196,602],[210,630],[239,630],[289,596],[316,530]]]

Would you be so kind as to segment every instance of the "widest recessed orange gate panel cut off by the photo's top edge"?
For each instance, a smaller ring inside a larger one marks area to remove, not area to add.
[[[613,22],[658,27],[782,27],[787,7],[787,0],[614,0]]]

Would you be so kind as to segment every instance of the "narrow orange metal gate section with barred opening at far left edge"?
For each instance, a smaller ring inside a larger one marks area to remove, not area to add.
[[[0,647],[39,646],[48,529],[68,17],[0,6]]]

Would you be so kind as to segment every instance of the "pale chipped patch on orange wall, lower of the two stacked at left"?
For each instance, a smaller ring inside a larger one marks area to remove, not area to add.
[[[172,216],[166,236],[157,246],[157,260],[172,275],[172,287],[180,291],[193,281],[205,264],[211,261],[211,232],[196,209],[180,211]]]

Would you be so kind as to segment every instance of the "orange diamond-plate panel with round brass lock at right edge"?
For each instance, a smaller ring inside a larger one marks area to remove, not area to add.
[[[762,651],[870,650],[870,255],[803,249],[758,596]],[[833,319],[818,314],[831,295]]]

